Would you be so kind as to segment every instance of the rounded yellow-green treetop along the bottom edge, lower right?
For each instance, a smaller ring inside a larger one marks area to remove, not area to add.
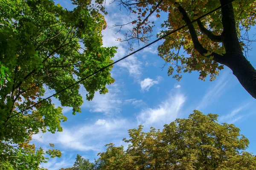
[[[101,170],[253,170],[256,157],[244,150],[248,139],[233,124],[217,122],[218,115],[195,110],[162,131],[128,130],[124,147],[107,144],[99,153]]]

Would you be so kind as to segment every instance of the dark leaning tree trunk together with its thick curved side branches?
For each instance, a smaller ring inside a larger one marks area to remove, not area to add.
[[[244,89],[256,99],[256,70],[250,64],[250,62],[244,57],[239,39],[237,36],[236,30],[236,20],[233,11],[232,3],[229,3],[230,0],[220,0],[222,13],[222,25],[223,32],[221,35],[214,35],[211,31],[204,28],[201,21],[198,21],[198,26],[201,29],[201,32],[206,34],[207,37],[214,42],[222,42],[225,47],[225,54],[217,54],[212,52],[213,60],[220,64],[226,65],[229,67],[233,74],[237,77]],[[182,19],[187,23],[191,23],[188,14],[185,9],[180,6],[178,3],[175,3],[178,6],[180,14],[182,14]],[[189,33],[191,35],[192,41],[194,43],[194,48],[201,54],[205,55],[209,52],[204,48],[198,40],[197,32],[192,24],[188,26]],[[205,56],[207,57],[207,56]]]

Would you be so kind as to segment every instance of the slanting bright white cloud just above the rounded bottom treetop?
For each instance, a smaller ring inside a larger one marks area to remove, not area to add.
[[[174,121],[186,101],[183,94],[170,94],[169,98],[155,108],[147,108],[137,116],[138,124],[144,126],[160,125]],[[155,126],[154,126],[155,127]]]

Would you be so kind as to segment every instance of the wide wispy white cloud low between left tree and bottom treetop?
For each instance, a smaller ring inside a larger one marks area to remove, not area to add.
[[[80,124],[73,127],[63,127],[62,132],[43,133],[40,142],[60,144],[63,148],[74,151],[104,150],[104,145],[114,139],[126,136],[127,129],[131,127],[126,119],[98,119],[94,123]],[[38,135],[37,135],[38,136]],[[33,138],[37,138],[33,136]],[[101,140],[99,140],[99,137]]]

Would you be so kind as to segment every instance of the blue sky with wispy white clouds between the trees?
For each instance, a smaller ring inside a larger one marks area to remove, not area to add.
[[[57,0],[64,8],[72,9],[68,0]],[[124,57],[130,51],[127,43],[120,43],[116,38],[118,28],[111,28],[114,24],[127,23],[128,16],[125,11],[119,11],[117,4],[108,5],[108,16],[105,17],[108,28],[103,31],[105,46],[117,46],[114,60]],[[161,19],[151,17],[156,23]],[[129,27],[129,26],[127,26]],[[126,29],[126,28],[125,28]],[[160,30],[157,26],[154,33]],[[253,34],[254,28],[250,31]],[[152,37],[151,41],[156,37]],[[167,76],[167,68],[163,68],[164,61],[157,56],[157,45],[151,45],[145,50],[117,63],[111,74],[116,82],[108,86],[109,93],[100,95],[96,93],[93,101],[86,101],[86,91],[80,90],[84,96],[82,113],[72,115],[71,108],[64,108],[67,122],[61,123],[63,132],[44,133],[34,136],[35,142],[47,148],[47,144],[54,143],[55,148],[61,150],[62,157],[49,159],[42,164],[49,170],[59,170],[61,167],[72,167],[76,154],[93,161],[97,153],[105,151],[105,144],[110,142],[127,146],[122,139],[128,137],[127,130],[144,125],[163,128],[176,118],[187,118],[194,109],[203,113],[219,115],[219,122],[233,123],[241,129],[250,145],[248,152],[256,153],[256,100],[240,85],[232,71],[225,67],[215,81],[205,82],[198,79],[199,73],[183,74],[180,82]],[[134,48],[143,47],[134,44]],[[256,58],[251,45],[248,60],[256,67]],[[52,99],[55,105],[60,103]],[[40,137],[41,136],[41,137]]]

